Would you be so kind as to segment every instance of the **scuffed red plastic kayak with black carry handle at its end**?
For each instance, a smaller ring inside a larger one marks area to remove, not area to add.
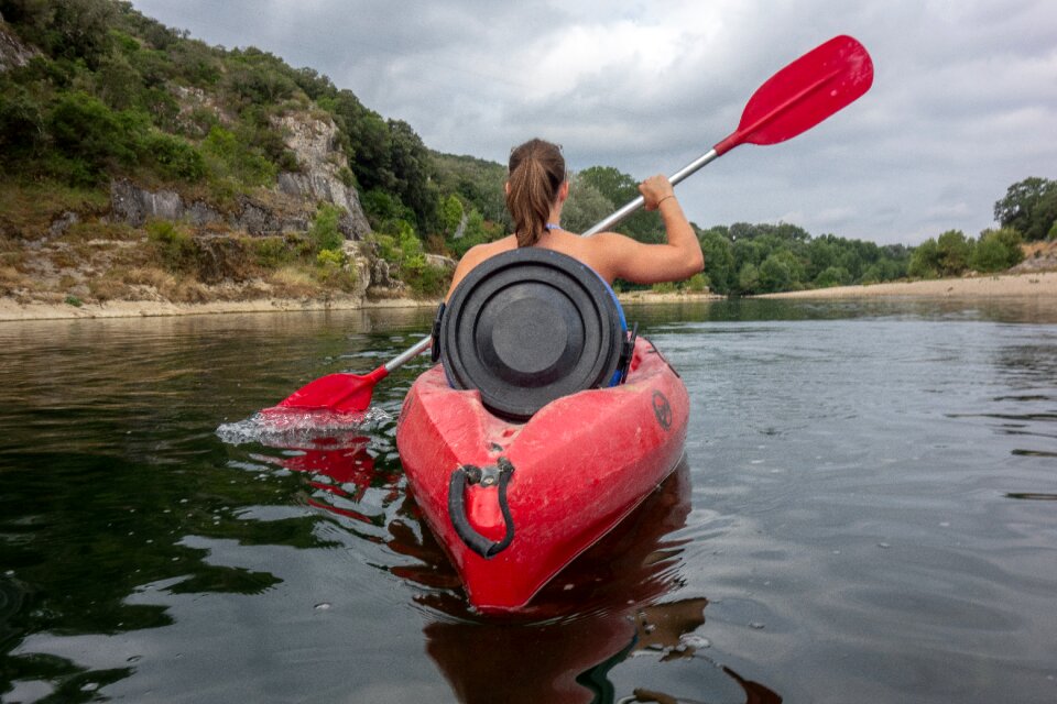
[[[396,447],[471,606],[509,612],[664,481],[688,414],[678,374],[640,338],[624,384],[564,396],[525,422],[489,413],[434,366],[404,400]]]

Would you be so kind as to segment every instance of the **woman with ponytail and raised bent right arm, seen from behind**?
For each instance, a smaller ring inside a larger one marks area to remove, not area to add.
[[[568,254],[610,285],[617,278],[634,284],[676,282],[700,272],[705,266],[701,245],[667,177],[651,176],[639,185],[639,191],[646,210],[661,211],[666,243],[644,244],[615,232],[581,238],[558,224],[569,197],[560,148],[543,140],[515,147],[510,154],[506,180],[506,208],[514,220],[514,233],[470,248],[455,270],[448,298],[475,266],[501,252],[525,246]]]

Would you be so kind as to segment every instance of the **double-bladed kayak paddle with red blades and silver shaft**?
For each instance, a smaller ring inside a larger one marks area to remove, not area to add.
[[[739,144],[777,144],[811,129],[841,108],[854,102],[873,84],[873,62],[865,47],[850,36],[835,36],[776,73],[756,89],[738,129],[708,153],[671,176],[673,185],[722,156]],[[642,207],[640,196],[584,233],[589,237],[614,224]],[[265,410],[329,410],[362,413],[371,404],[374,385],[429,348],[424,338],[370,374],[328,374],[303,386]]]

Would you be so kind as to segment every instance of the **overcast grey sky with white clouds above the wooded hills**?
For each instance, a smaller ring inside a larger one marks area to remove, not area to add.
[[[1051,0],[133,0],[228,48],[308,66],[427,146],[505,163],[531,136],[574,169],[674,173],[738,125],[774,72],[837,34],[873,88],[678,187],[701,227],[792,222],[917,244],[976,237],[1028,176],[1057,178]]]

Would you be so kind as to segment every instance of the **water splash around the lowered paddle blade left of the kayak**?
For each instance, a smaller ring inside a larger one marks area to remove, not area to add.
[[[391,419],[392,416],[377,406],[356,413],[276,406],[243,420],[222,424],[217,428],[217,437],[228,444],[259,442],[273,448],[339,449],[362,444],[366,427]]]

